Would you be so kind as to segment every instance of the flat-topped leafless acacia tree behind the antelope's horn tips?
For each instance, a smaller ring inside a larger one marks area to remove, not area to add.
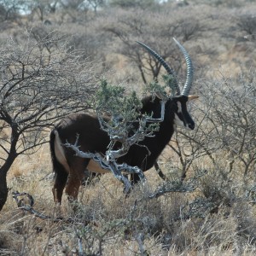
[[[102,19],[102,29],[112,40],[118,38],[118,44],[111,44],[114,48],[112,50],[125,55],[129,62],[135,63],[145,84],[152,78],[159,78],[161,64],[138,47],[136,41],[157,49],[162,58],[172,63],[173,70],[178,73],[183,67],[183,62],[178,49],[171,44],[172,38],[179,38],[186,43],[191,38],[200,37],[201,32],[205,30],[200,16],[195,18],[182,10],[176,10],[174,14],[172,11],[111,9],[107,15]]]

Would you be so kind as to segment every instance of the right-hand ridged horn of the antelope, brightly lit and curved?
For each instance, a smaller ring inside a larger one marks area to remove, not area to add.
[[[190,59],[189,53],[187,52],[186,49],[184,49],[183,45],[180,44],[175,38],[173,38],[174,42],[177,44],[178,48],[182,51],[185,60],[186,60],[186,65],[187,65],[187,78],[186,82],[183,87],[183,96],[189,96],[189,91],[191,89],[192,83],[193,83],[193,76],[194,76],[194,71],[193,71],[193,65],[192,61]]]

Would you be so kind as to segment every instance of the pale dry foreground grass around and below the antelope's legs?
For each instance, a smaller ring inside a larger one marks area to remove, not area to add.
[[[52,179],[47,178],[50,172],[49,154],[46,152],[45,146],[35,157],[18,160],[9,172],[9,186],[12,190],[30,193],[39,212],[55,216]],[[38,164],[39,158],[43,166]],[[20,175],[17,176],[17,173]],[[206,218],[175,221],[183,206],[201,192],[196,192],[194,196],[171,193],[159,199],[140,201],[161,183],[154,170],[146,174],[148,184],[138,186],[128,198],[122,193],[122,185],[112,175],[105,175],[88,188],[81,188],[77,212],[73,212],[65,197],[62,216],[75,218],[73,224],[54,223],[21,212],[9,196],[1,212],[1,253],[79,255],[79,237],[84,255],[97,255],[99,251],[102,255],[137,255],[143,254],[143,249],[144,255],[255,253],[253,232],[256,230],[256,218],[247,202],[241,201],[231,207],[223,204],[218,213],[207,214]],[[214,183],[217,186],[219,179],[216,174],[209,173],[201,181],[201,190],[210,184],[209,189],[214,187]],[[137,238],[140,236],[143,236],[142,240]]]

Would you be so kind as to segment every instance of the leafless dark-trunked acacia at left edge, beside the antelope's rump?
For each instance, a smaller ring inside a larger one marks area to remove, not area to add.
[[[46,50],[52,43],[55,50]],[[7,199],[6,176],[20,154],[48,142],[49,128],[70,112],[90,108],[92,68],[58,38],[0,49],[0,210]],[[86,70],[86,72],[84,71]]]

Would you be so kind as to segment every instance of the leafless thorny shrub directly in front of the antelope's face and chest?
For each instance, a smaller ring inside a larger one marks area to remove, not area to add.
[[[170,144],[181,161],[182,173],[193,161],[205,156],[218,168],[219,154],[224,154],[229,162],[228,172],[239,171],[245,180],[252,178],[256,160],[253,77],[252,70],[236,79],[222,77],[213,85],[212,81],[204,84],[201,102],[193,114],[197,124],[195,131],[179,131],[176,144]]]

